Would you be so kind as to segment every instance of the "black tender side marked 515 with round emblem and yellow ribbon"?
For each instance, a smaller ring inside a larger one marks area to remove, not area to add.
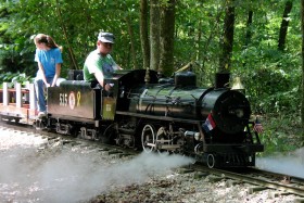
[[[101,118],[101,89],[85,80],[65,80],[60,87],[48,88],[48,114],[74,119]]]

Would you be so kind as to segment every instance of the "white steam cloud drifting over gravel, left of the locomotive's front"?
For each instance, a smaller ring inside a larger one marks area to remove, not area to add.
[[[71,148],[0,148],[0,202],[81,202],[114,187],[143,183],[193,162],[181,155],[142,153],[115,163],[117,160],[105,161],[97,150],[84,153]]]

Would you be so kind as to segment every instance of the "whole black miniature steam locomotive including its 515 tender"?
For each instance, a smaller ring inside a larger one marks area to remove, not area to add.
[[[256,152],[264,150],[251,131],[248,99],[223,83],[201,88],[191,72],[176,73],[172,81],[154,71],[117,71],[105,80],[113,86],[106,92],[75,78],[48,88],[42,123],[60,134],[182,153],[208,167],[254,166]]]

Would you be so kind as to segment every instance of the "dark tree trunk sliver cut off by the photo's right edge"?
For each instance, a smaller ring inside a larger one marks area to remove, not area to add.
[[[301,31],[304,36],[304,0],[301,0]],[[302,147],[304,145],[304,38],[302,37],[302,102],[301,102],[301,124],[302,124]]]

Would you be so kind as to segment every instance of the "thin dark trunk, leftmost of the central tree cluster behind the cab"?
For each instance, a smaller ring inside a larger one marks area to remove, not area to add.
[[[143,68],[150,67],[150,45],[148,35],[148,1],[140,0],[140,41],[143,58]]]

